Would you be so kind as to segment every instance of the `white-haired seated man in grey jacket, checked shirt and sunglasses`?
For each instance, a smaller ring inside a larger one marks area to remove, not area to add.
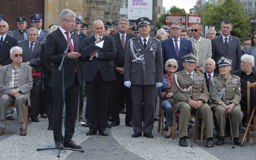
[[[5,119],[8,106],[15,103],[20,122],[20,135],[27,135],[25,129],[25,103],[30,106],[32,89],[32,68],[22,63],[22,48],[14,46],[10,50],[12,63],[0,67],[0,135],[5,133]]]

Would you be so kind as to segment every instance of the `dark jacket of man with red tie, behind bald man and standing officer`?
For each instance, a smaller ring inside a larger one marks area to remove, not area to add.
[[[117,51],[117,56],[114,59],[114,67],[123,67],[128,41],[133,37],[137,37],[137,35],[133,34],[133,33],[129,33],[129,32],[126,33],[126,40],[125,40],[124,49],[123,49],[123,46],[122,46],[122,42],[121,42],[121,39],[120,39],[119,32],[110,35],[110,37],[114,38],[115,45],[116,45],[116,51]],[[116,73],[116,76],[121,75],[117,71],[115,71],[115,73]],[[123,76],[123,74],[122,74],[122,76]]]

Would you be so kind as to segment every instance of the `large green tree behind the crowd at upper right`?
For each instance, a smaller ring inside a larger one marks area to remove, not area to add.
[[[222,20],[232,22],[233,28],[231,35],[239,37],[242,42],[243,38],[250,37],[251,23],[250,16],[244,14],[242,3],[236,3],[234,0],[226,0],[224,3],[215,3],[203,6],[202,25],[215,26],[215,30],[221,30]]]

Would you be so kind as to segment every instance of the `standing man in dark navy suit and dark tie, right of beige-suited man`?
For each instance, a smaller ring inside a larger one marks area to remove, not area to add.
[[[240,70],[240,58],[242,56],[241,44],[238,37],[230,35],[232,31],[232,23],[224,21],[221,23],[222,35],[212,39],[212,59],[217,62],[221,57],[232,60],[230,73]],[[219,72],[219,67],[216,65],[214,70]]]

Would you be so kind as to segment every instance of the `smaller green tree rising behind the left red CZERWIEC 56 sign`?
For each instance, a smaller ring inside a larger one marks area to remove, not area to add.
[[[186,11],[184,9],[180,9],[176,7],[175,5],[172,6],[169,10],[166,11],[166,13],[163,13],[156,22],[156,27],[160,28],[160,25],[165,24],[165,15],[166,14],[186,14]]]

